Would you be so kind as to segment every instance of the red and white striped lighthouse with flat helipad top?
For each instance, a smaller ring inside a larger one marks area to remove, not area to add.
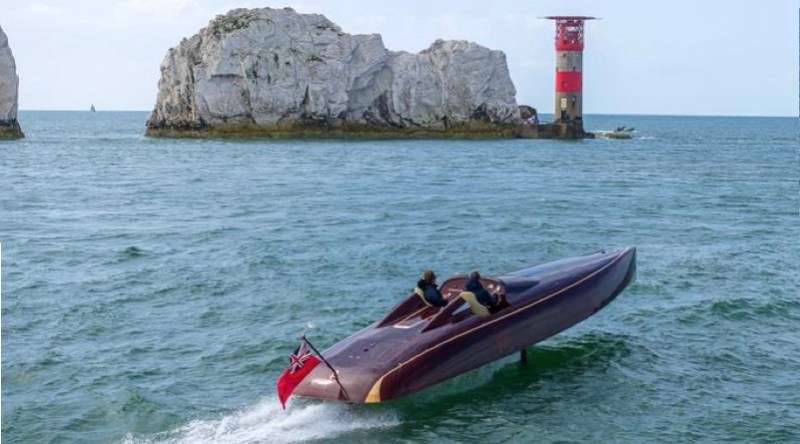
[[[583,130],[583,22],[595,17],[545,18],[556,21],[555,123]]]

